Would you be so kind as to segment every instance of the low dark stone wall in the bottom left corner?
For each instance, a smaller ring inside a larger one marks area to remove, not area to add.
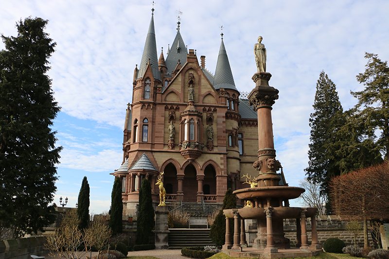
[[[18,238],[0,241],[0,259],[31,259],[31,255],[46,256],[45,237]]]

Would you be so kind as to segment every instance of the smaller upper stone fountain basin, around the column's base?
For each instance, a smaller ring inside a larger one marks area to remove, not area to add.
[[[269,186],[234,190],[233,194],[241,200],[252,198],[282,198],[289,200],[298,198],[304,191],[305,189],[300,187]]]

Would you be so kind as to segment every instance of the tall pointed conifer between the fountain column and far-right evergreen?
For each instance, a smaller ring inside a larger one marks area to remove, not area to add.
[[[331,177],[340,175],[335,155],[339,136],[337,132],[344,123],[343,109],[336,92],[336,85],[324,71],[320,72],[316,84],[315,112],[311,113],[311,143],[309,162],[305,169],[308,181],[321,184],[321,192],[328,196],[328,182]]]

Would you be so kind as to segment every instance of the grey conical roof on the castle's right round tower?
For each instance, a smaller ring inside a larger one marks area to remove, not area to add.
[[[219,57],[217,58],[213,87],[215,89],[229,88],[238,90],[235,87],[234,78],[232,77],[230,62],[228,61],[226,48],[224,47],[223,37],[222,43],[220,44]]]

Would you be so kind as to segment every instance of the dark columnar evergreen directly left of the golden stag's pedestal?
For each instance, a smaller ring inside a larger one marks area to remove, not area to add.
[[[154,208],[151,197],[151,183],[147,178],[142,181],[139,190],[139,213],[137,219],[137,244],[148,244],[150,242],[151,231],[153,230]]]

